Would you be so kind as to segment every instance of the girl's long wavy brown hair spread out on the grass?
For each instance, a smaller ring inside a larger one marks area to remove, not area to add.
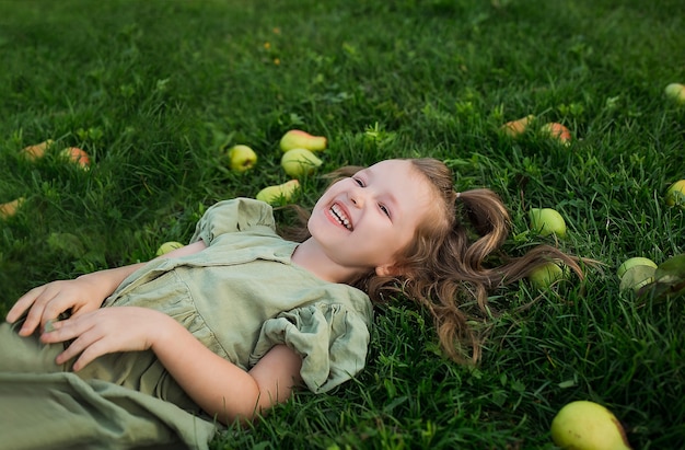
[[[469,325],[475,318],[466,305],[477,304],[488,314],[488,293],[526,277],[550,261],[562,263],[581,279],[579,258],[549,245],[539,245],[520,257],[501,252],[509,235],[510,218],[500,197],[486,188],[462,193],[454,191],[452,171],[431,158],[409,159],[433,187],[437,216],[423,220],[415,239],[396,255],[393,276],[374,270],[350,285],[364,290],[373,302],[392,293],[403,293],[426,308],[432,315],[441,347],[462,364],[480,359],[481,336]],[[333,183],[359,172],[361,166],[344,166],[328,175]],[[298,208],[301,226],[281,229],[285,238],[304,241],[309,238],[309,214]],[[495,261],[494,261],[495,259]]]

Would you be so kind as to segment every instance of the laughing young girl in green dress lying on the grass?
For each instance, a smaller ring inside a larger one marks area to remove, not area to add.
[[[457,194],[438,160],[338,175],[302,242],[277,234],[267,204],[220,201],[185,247],[20,298],[0,326],[3,441],[206,448],[213,418],[251,420],[301,385],[325,392],[358,373],[372,304],[392,293],[428,308],[465,362],[480,350],[460,304],[485,309],[488,291],[550,258],[582,275],[549,246],[486,267],[507,209],[488,189]]]

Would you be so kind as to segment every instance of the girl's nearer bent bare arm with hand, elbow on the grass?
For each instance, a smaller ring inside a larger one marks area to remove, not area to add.
[[[57,322],[54,328],[42,341],[74,339],[56,362],[78,357],[77,371],[104,354],[152,349],[181,388],[224,424],[253,419],[288,400],[302,382],[302,359],[285,345],[271,348],[246,372],[213,354],[174,319],[146,308],[103,308]]]

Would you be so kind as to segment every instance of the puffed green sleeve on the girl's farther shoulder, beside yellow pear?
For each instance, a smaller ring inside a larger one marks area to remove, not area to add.
[[[202,240],[209,246],[221,234],[247,231],[254,227],[276,228],[270,205],[254,198],[222,200],[205,211],[190,242]]]

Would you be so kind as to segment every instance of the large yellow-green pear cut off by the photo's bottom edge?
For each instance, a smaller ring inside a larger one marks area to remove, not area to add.
[[[604,406],[584,400],[559,409],[552,420],[552,439],[562,449],[630,450],[616,416]]]

